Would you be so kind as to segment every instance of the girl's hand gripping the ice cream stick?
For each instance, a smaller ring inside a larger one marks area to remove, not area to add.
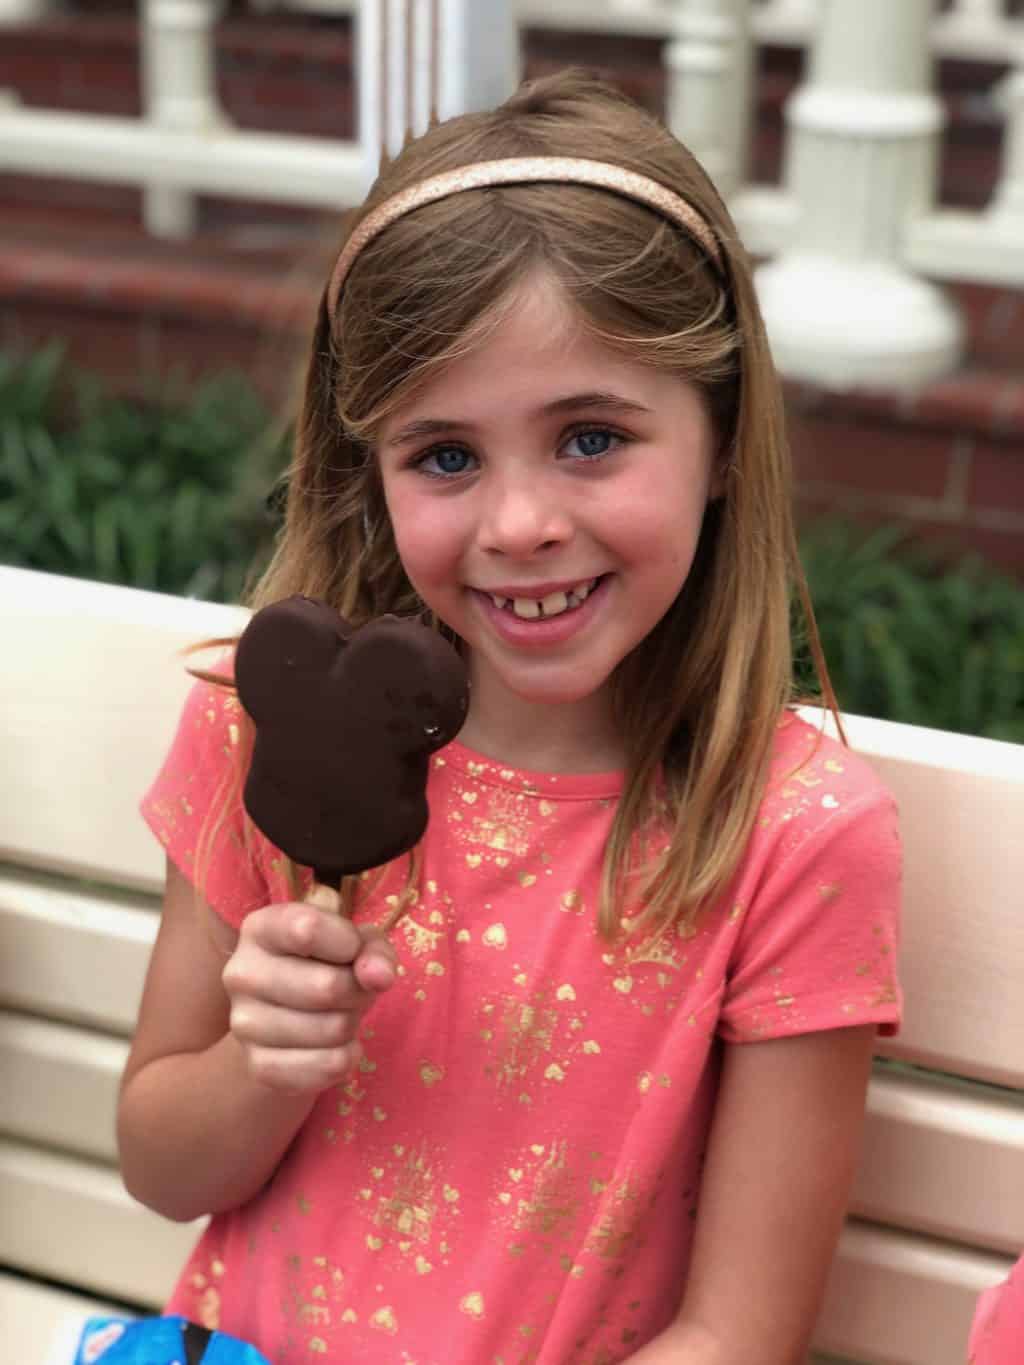
[[[344,1080],[362,1057],[359,1021],[396,966],[378,930],[309,905],[246,916],[223,981],[250,1074],[292,1093]]]

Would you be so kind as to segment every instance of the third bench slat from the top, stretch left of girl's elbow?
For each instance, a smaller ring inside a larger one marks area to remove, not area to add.
[[[0,1010],[0,1133],[117,1162],[120,1039]]]

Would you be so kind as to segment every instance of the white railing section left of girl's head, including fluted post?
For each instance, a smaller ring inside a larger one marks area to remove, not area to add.
[[[359,202],[381,147],[431,112],[497,102],[515,82],[515,18],[489,0],[362,0],[356,25],[356,142],[233,128],[217,102],[221,0],[141,0],[145,117],[22,109],[0,91],[0,168],[146,188],[146,224],[194,228],[197,192],[339,209]],[[0,0],[0,26],[57,12],[55,0]],[[496,22],[505,16],[505,23]],[[429,22],[423,22],[423,18]]]

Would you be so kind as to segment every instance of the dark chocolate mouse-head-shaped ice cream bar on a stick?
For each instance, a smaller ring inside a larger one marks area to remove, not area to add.
[[[235,682],[255,725],[243,800],[272,844],[335,889],[412,848],[430,755],[468,706],[466,666],[445,639],[393,616],[354,629],[292,597],[253,616]]]

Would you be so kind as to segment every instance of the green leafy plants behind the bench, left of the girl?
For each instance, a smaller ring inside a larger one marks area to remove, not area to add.
[[[232,599],[273,524],[284,438],[235,377],[132,403],[64,374],[59,349],[0,356],[0,543],[27,568]],[[270,471],[273,470],[273,474]]]

